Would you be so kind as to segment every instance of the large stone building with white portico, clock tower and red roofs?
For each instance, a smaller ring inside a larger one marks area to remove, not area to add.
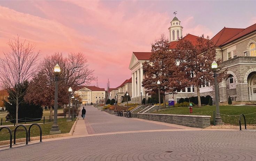
[[[177,17],[171,21],[169,29],[170,50],[175,49],[177,40],[188,39],[193,44],[198,36],[187,34],[183,37],[181,22]],[[219,83],[220,102],[227,101],[231,96],[233,101],[256,100],[256,24],[247,28],[224,27],[212,39],[217,46],[216,58],[222,59],[223,70],[227,69],[228,76]],[[142,63],[149,61],[151,52],[133,52],[129,69],[132,74],[132,101],[139,102],[140,94],[145,97],[145,89],[141,87],[144,73]],[[190,86],[175,95],[167,95],[166,100],[197,96],[196,87]],[[205,82],[200,86],[200,95],[210,95],[215,99],[212,82]]]

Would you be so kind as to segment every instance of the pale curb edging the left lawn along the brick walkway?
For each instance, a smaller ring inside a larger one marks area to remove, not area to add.
[[[80,114],[80,112],[79,112],[79,114]],[[42,136],[42,139],[55,138],[55,137],[64,137],[64,136],[72,136],[73,132],[74,132],[74,129],[76,127],[77,120],[78,120],[78,117],[77,117],[76,121],[74,122],[73,126],[71,127],[69,133],[55,134],[55,135],[44,135],[44,136]],[[31,141],[39,140],[39,139],[40,139],[40,136],[34,136],[34,137],[30,138]],[[14,140],[12,139],[12,143],[13,142],[14,142]],[[26,142],[26,138],[16,139],[16,143],[20,143],[20,142]],[[10,140],[0,141],[0,145],[6,145],[6,144],[10,144]]]

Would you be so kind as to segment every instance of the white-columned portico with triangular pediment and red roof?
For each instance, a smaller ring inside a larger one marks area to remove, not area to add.
[[[129,69],[132,75],[132,101],[137,103],[145,98],[145,88],[142,87],[142,80],[144,78],[142,63],[149,61],[150,52],[133,52]]]

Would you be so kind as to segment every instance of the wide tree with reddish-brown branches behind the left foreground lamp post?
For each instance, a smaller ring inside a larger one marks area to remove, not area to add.
[[[59,64],[61,72],[58,83],[58,103],[68,104],[68,88],[82,84],[89,84],[95,80],[94,70],[88,68],[87,59],[83,53],[70,53],[65,58],[61,53],[46,56],[40,63],[40,73],[34,76],[28,87],[25,100],[34,104],[48,105],[50,118],[52,118],[52,106],[54,105],[54,72],[53,68]],[[66,79],[62,79],[66,78]],[[44,86],[42,91],[41,86]],[[37,91],[41,91],[37,93]]]

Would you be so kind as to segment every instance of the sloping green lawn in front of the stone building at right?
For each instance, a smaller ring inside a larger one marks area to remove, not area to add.
[[[220,113],[225,115],[240,115],[249,114],[256,112],[256,106],[220,106]],[[203,106],[203,107],[193,107],[193,113],[189,113],[188,107],[175,107],[166,110],[155,111],[152,113],[163,113],[163,114],[177,114],[177,115],[208,115],[211,116],[211,124],[213,123],[213,111],[216,111],[215,106]],[[225,116],[222,117],[222,121],[226,125],[239,125],[239,116]],[[246,115],[247,125],[256,125],[256,113],[251,115]],[[242,118],[243,122],[243,118]],[[242,123],[243,124],[243,123]]]

